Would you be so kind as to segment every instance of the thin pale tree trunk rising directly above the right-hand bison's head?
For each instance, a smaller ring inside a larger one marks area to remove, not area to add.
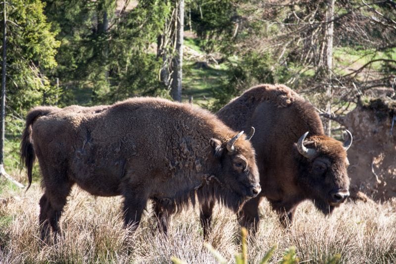
[[[326,71],[327,71],[327,87],[326,87],[326,97],[327,97],[327,105],[326,110],[329,115],[331,115],[331,106],[333,101],[332,96],[332,75],[333,75],[333,32],[334,32],[334,5],[335,0],[328,0],[327,1],[328,7],[326,12],[326,22],[327,22],[327,50],[326,50]],[[331,21],[331,22],[329,22]],[[325,133],[326,135],[331,135],[331,119],[326,120],[325,124]]]

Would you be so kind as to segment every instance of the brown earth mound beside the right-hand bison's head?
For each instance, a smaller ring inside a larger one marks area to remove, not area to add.
[[[361,191],[377,201],[396,197],[395,116],[396,101],[371,99],[343,118],[353,135],[348,150],[352,194]]]

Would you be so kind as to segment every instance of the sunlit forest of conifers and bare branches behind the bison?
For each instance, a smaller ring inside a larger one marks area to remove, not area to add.
[[[10,171],[19,165],[24,116],[38,105],[160,96],[215,112],[255,84],[282,83],[310,100],[327,117],[326,133],[337,135],[342,127],[331,119],[367,97],[395,99],[393,0],[12,0],[4,6]]]

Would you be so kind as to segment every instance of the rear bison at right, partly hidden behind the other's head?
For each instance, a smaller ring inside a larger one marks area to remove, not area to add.
[[[242,225],[257,229],[263,197],[287,225],[297,205],[306,199],[328,214],[349,196],[350,132],[344,144],[324,135],[314,106],[290,88],[258,85],[221,108],[217,116],[233,129],[256,129],[252,144],[265,188],[242,208]],[[212,201],[201,205],[202,223],[210,224],[213,205]]]

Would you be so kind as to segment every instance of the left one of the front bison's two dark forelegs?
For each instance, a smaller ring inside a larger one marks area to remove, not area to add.
[[[130,230],[135,231],[138,228],[147,201],[148,198],[132,190],[124,192],[124,223]]]

